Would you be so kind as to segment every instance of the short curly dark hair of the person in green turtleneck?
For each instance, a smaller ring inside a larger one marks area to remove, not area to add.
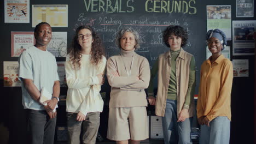
[[[182,44],[181,47],[185,46],[188,41],[188,32],[185,31],[185,29],[181,26],[168,26],[164,32],[162,32],[162,38],[164,40],[164,43],[167,47],[170,47],[168,43],[168,38],[171,34],[176,35],[177,37],[182,38]]]

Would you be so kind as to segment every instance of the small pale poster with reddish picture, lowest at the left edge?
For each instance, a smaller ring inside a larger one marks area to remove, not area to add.
[[[20,87],[21,81],[19,77],[19,63],[18,62],[3,62],[3,81],[4,87]]]

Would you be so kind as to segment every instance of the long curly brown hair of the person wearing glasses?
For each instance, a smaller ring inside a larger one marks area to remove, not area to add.
[[[101,43],[101,39],[99,35],[94,31],[94,29],[90,26],[79,26],[75,31],[74,38],[72,40],[71,46],[68,48],[67,53],[69,54],[69,58],[71,59],[71,63],[73,64],[73,68],[75,68],[75,63],[81,67],[80,60],[82,58],[82,47],[78,43],[78,33],[82,29],[89,29],[91,31],[93,42],[91,44],[91,64],[97,65],[100,63],[103,53],[103,46]]]

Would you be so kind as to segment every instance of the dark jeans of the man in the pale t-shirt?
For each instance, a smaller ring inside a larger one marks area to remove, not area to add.
[[[32,144],[54,143],[56,117],[50,119],[46,111],[27,109],[28,131]]]

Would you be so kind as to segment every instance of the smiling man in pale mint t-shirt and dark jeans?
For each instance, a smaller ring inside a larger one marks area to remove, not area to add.
[[[56,59],[46,46],[51,40],[51,26],[41,22],[34,29],[36,45],[22,52],[19,58],[19,79],[22,82],[22,105],[28,113],[30,143],[54,143],[56,111],[60,82]],[[50,100],[39,102],[41,89],[52,94]]]

